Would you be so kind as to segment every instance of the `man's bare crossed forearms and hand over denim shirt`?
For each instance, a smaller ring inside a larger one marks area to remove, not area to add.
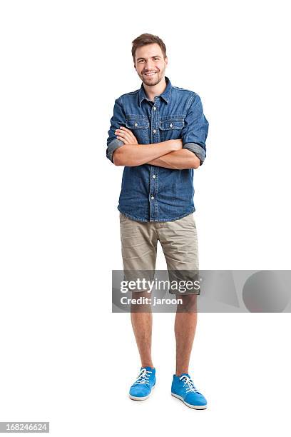
[[[115,134],[124,144],[113,153],[116,166],[151,164],[176,170],[198,169],[200,166],[198,156],[188,149],[183,149],[181,139],[163,141],[153,147],[152,144],[138,144],[136,136],[123,126],[116,129]]]

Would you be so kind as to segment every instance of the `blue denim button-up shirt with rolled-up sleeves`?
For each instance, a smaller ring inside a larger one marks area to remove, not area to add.
[[[163,94],[154,102],[141,89],[116,99],[108,131],[106,156],[113,162],[113,152],[123,146],[116,129],[131,129],[138,144],[153,144],[182,139],[183,148],[200,159],[206,156],[208,121],[200,97],[193,91],[173,86],[168,77]],[[137,146],[138,147],[138,146]],[[165,169],[143,164],[124,167],[118,210],[137,221],[173,221],[195,211],[193,169]]]

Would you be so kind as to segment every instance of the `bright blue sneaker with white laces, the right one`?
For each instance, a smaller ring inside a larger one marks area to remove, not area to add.
[[[173,376],[172,395],[180,399],[190,408],[204,410],[207,408],[207,401],[203,394],[195,388],[192,379],[188,373],[182,373],[181,376]]]

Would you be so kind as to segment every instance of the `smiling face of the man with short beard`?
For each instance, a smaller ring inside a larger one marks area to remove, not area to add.
[[[158,44],[147,44],[136,49],[136,63],[134,65],[143,84],[154,86],[165,76],[168,58],[163,57],[163,52]]]

